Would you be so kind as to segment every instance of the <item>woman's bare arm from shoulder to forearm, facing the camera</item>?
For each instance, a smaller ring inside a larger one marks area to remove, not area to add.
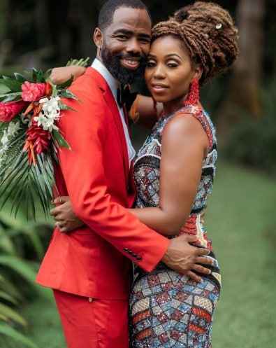
[[[160,207],[131,213],[162,235],[177,235],[191,212],[207,148],[208,137],[198,120],[175,116],[162,137]]]

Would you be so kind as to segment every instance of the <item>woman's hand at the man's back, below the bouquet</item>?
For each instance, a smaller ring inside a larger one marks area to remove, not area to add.
[[[68,196],[57,197],[53,204],[60,204],[59,207],[52,209],[50,214],[55,218],[55,226],[59,228],[61,232],[71,232],[85,225],[75,216]]]

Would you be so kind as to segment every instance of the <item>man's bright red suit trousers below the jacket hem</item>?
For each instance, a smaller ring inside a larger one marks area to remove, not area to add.
[[[54,295],[68,348],[129,348],[127,300]]]

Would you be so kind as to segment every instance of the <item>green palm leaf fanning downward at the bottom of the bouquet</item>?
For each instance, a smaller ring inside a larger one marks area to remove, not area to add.
[[[10,212],[17,216],[22,210],[28,218],[36,218],[40,204],[45,217],[50,213],[52,187],[55,186],[52,163],[53,149],[36,156],[36,164],[30,165],[24,147],[26,127],[10,139],[0,165],[0,209],[12,202]]]

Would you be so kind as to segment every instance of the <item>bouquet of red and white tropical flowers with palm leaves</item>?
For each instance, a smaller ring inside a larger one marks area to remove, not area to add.
[[[85,67],[87,60],[67,65]],[[15,216],[21,207],[35,218],[38,203],[45,216],[49,213],[57,149],[70,148],[57,120],[61,110],[70,109],[61,98],[77,99],[67,89],[73,76],[62,85],[49,76],[50,71],[36,69],[27,76],[0,76],[0,210],[11,201]]]

